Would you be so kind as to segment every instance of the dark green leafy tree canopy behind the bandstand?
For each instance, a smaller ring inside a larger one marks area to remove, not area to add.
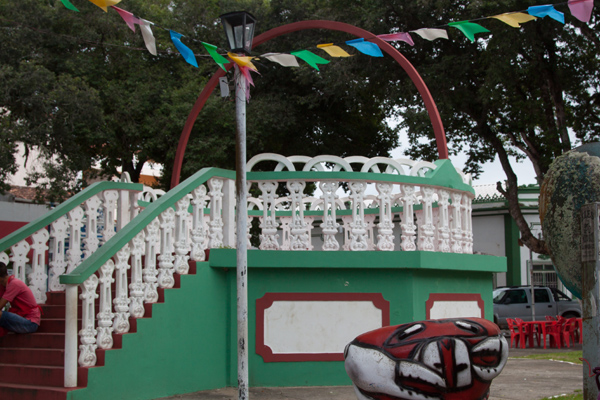
[[[429,87],[445,126],[451,154],[468,156],[474,177],[498,157],[506,173],[499,186],[510,204],[522,240],[539,253],[543,242],[529,232],[518,205],[518,177],[510,156],[529,160],[538,181],[552,160],[576,138],[598,139],[599,36],[596,17],[584,24],[567,14],[565,25],[550,18],[512,28],[498,20],[478,21],[491,34],[472,43],[453,21],[478,19],[539,5],[532,0],[128,0],[123,8],[155,23],[158,55],[120,17],[92,3],[80,13],[58,0],[0,0],[0,178],[14,168],[16,140],[55,157],[47,186],[57,198],[77,190],[67,181],[99,164],[117,167],[134,180],[143,163],[164,164],[166,187],[185,119],[218,68],[200,42],[224,45],[219,15],[244,9],[258,19],[258,32],[286,23],[325,19],[375,34],[427,27],[449,30],[450,40],[394,45]],[[186,64],[163,29],[184,34],[199,67]],[[277,38],[259,53],[311,49],[343,43],[348,35],[302,31]],[[355,52],[356,53],[356,52]],[[407,154],[437,158],[424,103],[406,73],[389,57],[357,54],[334,59],[315,71],[303,64],[284,68],[258,61],[260,75],[248,105],[248,155],[323,153],[387,156],[398,133],[409,135]],[[231,80],[231,73],[229,74]],[[233,168],[233,100],[217,93],[208,100],[187,146],[182,179],[204,166]],[[400,121],[392,128],[390,118]],[[32,179],[41,179],[34,176]],[[78,184],[83,184],[79,182]]]

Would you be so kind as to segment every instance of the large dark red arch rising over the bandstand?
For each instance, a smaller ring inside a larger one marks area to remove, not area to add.
[[[406,59],[404,56],[396,50],[389,43],[379,39],[377,36],[368,32],[364,29],[358,28],[354,25],[346,24],[343,22],[335,22],[335,21],[302,21],[302,22],[294,22],[291,24],[283,25],[270,31],[267,31],[256,38],[254,38],[254,43],[252,48],[260,46],[264,42],[268,42],[271,39],[274,39],[278,36],[285,35],[291,32],[306,30],[306,29],[327,29],[332,31],[341,31],[346,32],[351,35],[354,35],[358,38],[365,38],[365,40],[369,40],[375,44],[377,44],[381,50],[390,55],[400,66],[406,71],[410,79],[413,81],[419,94],[423,98],[425,102],[425,107],[427,108],[427,112],[429,113],[429,119],[431,120],[431,125],[433,126],[433,132],[435,134],[435,141],[438,148],[438,155],[440,159],[448,158],[448,146],[446,145],[446,134],[444,132],[444,126],[442,125],[442,120],[440,118],[440,114],[435,106],[435,102],[431,97],[431,93],[429,93],[429,89],[423,79],[413,67],[413,65]],[[227,70],[229,70],[232,64],[225,64]],[[219,82],[219,78],[225,75],[225,71],[222,69],[218,69],[217,72],[213,75],[213,77],[208,81],[198,99],[196,99],[196,103],[192,107],[192,111],[188,115],[188,118],[183,127],[183,131],[181,132],[181,136],[179,138],[179,144],[177,145],[177,153],[175,154],[175,162],[173,165],[173,174],[171,175],[171,187],[175,187],[179,184],[179,176],[181,175],[181,166],[183,164],[183,156],[185,154],[185,148],[187,147],[188,139],[190,137],[190,133],[192,132],[192,127],[196,122],[196,118],[198,114],[204,107],[204,104],[208,100],[208,97],[215,89]]]

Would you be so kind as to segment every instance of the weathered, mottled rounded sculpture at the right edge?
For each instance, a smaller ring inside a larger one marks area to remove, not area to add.
[[[600,143],[558,157],[540,191],[540,221],[558,276],[581,298],[581,207],[600,201]]]

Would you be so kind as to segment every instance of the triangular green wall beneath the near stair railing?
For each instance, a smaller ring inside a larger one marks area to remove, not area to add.
[[[106,367],[90,368],[87,388],[68,399],[155,399],[230,386],[227,283],[225,271],[198,263],[197,273],[166,290],[152,318],[138,320],[137,333],[107,351]]]

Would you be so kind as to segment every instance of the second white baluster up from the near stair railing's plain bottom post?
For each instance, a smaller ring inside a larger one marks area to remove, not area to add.
[[[113,319],[112,312],[112,277],[115,271],[115,263],[108,260],[100,267],[100,304],[98,305],[98,347],[101,349],[112,349],[113,346]]]

